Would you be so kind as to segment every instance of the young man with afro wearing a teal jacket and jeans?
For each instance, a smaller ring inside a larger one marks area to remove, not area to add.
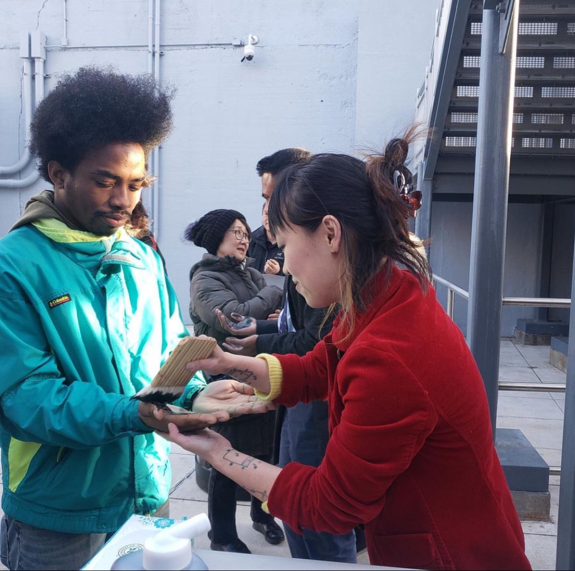
[[[132,513],[168,514],[169,443],[154,432],[167,421],[130,397],[188,333],[162,260],[124,225],[170,132],[170,98],[150,76],[81,68],[34,114],[30,149],[53,189],[0,240],[9,569],[79,569]],[[203,388],[190,384],[178,404]],[[228,417],[170,421],[194,430]]]

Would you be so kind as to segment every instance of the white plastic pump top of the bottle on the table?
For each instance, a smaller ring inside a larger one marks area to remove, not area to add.
[[[147,571],[185,569],[191,563],[191,539],[209,531],[205,513],[177,523],[144,541],[143,568]]]

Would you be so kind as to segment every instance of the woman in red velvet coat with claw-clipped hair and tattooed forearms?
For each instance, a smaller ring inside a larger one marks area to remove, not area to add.
[[[255,398],[239,396],[240,386],[287,406],[327,400],[321,465],[279,469],[209,430],[171,426],[170,438],[294,530],[343,534],[365,524],[372,564],[530,569],[480,373],[409,238],[420,195],[407,153],[408,140],[394,139],[366,161],[315,155],[280,175],[270,227],[308,304],[340,306],[331,334],[305,357],[216,350],[188,365],[251,385],[220,381],[231,401]],[[197,405],[210,398],[200,394]]]

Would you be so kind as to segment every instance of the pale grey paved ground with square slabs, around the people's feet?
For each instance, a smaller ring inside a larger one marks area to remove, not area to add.
[[[500,364],[501,381],[565,383],[566,375],[549,363],[549,347],[522,346],[511,339],[502,339]],[[501,391],[497,426],[519,428],[549,465],[559,466],[564,402],[563,393]],[[171,516],[179,519],[207,513],[207,494],[196,484],[193,455],[174,446],[171,462]],[[536,570],[555,569],[559,477],[550,478],[549,490],[551,522],[523,522],[527,557]],[[236,519],[239,536],[252,553],[290,556],[285,542],[269,545],[252,529],[248,503],[239,503]],[[208,538],[198,538],[197,547],[209,549]],[[359,562],[369,562],[367,555],[361,555]]]

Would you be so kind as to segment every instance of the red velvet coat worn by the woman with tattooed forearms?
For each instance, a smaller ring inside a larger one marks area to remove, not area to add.
[[[461,331],[407,271],[374,282],[350,338],[336,320],[305,357],[275,355],[277,402],[327,399],[331,438],[319,467],[282,470],[270,512],[300,531],[365,523],[374,565],[530,569]]]

